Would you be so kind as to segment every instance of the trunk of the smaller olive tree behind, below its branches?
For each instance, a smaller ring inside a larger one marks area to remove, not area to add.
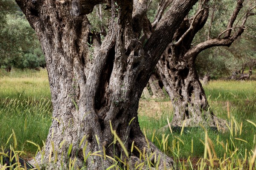
[[[176,63],[176,64],[175,64]],[[172,126],[205,126],[225,128],[225,122],[212,113],[194,61],[161,57],[157,69],[174,108]],[[218,125],[217,125],[218,124]]]

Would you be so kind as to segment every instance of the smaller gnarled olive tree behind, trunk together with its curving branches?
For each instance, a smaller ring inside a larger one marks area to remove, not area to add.
[[[209,108],[204,89],[195,71],[195,59],[207,48],[230,46],[248,28],[245,23],[249,16],[254,15],[255,4],[253,1],[247,1],[245,3],[247,7],[242,8],[243,3],[243,0],[237,0],[236,3],[200,1],[198,7],[192,11],[194,12],[192,17],[188,15],[184,19],[172,38],[172,43],[160,58],[157,71],[172,99],[174,116],[171,124],[173,126],[182,126],[183,123],[185,126],[196,126],[202,123],[224,129],[225,121],[214,116]],[[221,18],[226,23],[222,26],[219,26],[221,22],[216,22],[217,26],[213,22],[217,7],[228,7],[226,14],[230,14],[229,19],[227,16]],[[241,9],[244,11],[239,16]],[[195,38],[198,31],[207,23],[208,18],[207,36]]]

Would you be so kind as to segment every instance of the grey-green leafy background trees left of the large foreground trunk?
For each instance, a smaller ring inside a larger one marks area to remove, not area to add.
[[[14,0],[1,0],[0,65],[16,68],[44,66],[44,55],[35,31]]]

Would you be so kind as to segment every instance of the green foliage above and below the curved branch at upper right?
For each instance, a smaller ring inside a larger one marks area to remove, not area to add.
[[[246,9],[253,1],[244,2]],[[236,1],[211,1],[209,3],[210,12],[206,25],[195,37],[194,42],[205,41],[208,38],[210,28],[210,38],[218,37],[227,27],[227,21],[233,12]],[[244,15],[241,11],[238,18]],[[211,17],[213,15],[212,25]],[[230,47],[214,47],[201,52],[196,59],[196,69],[200,77],[209,74],[212,78],[220,78],[230,75],[234,70],[240,70],[242,65],[250,61],[256,61],[255,53],[255,26],[256,17],[249,17],[244,33]],[[235,23],[241,23],[241,19]]]

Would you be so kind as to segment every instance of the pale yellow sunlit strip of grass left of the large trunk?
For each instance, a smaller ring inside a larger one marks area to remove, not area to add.
[[[10,99],[41,98],[50,99],[49,82],[47,71],[15,70],[11,73],[3,73],[0,70],[0,99],[9,97]]]

